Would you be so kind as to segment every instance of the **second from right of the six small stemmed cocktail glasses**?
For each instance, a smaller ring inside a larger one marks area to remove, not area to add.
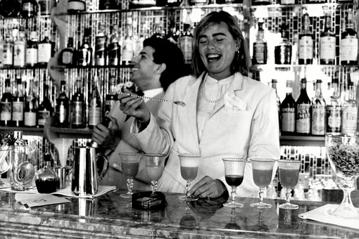
[[[251,159],[253,169],[253,181],[259,187],[259,202],[252,203],[251,207],[270,208],[272,205],[263,202],[265,188],[272,181],[273,167],[275,160],[269,158]]]

